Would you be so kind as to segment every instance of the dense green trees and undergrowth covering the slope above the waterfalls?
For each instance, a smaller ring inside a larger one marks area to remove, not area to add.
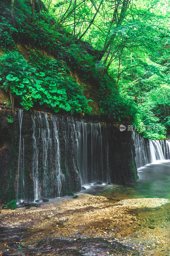
[[[165,138],[170,5],[164,0],[33,2],[16,0],[13,10],[11,1],[0,4],[1,48],[11,50],[0,66],[6,91],[26,109],[37,101],[55,112],[89,114],[88,100],[71,78],[76,73],[95,86],[101,114],[130,121],[145,137]],[[12,52],[21,42],[29,62]]]

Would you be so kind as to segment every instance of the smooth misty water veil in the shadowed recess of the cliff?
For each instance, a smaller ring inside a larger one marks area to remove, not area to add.
[[[77,161],[81,184],[105,180],[103,172],[103,143],[100,123],[75,121],[77,132]],[[108,178],[109,181],[110,177]]]

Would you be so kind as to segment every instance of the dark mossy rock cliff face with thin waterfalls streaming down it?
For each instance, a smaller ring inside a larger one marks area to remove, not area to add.
[[[1,107],[0,131],[3,202],[64,196],[97,180],[138,179],[131,132],[117,125],[24,110],[20,138],[18,109]]]

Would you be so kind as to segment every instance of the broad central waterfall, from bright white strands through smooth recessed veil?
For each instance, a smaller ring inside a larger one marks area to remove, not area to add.
[[[80,180],[110,181],[109,156],[103,156],[109,142],[103,146],[100,123],[35,112],[32,128],[34,200],[60,197]]]

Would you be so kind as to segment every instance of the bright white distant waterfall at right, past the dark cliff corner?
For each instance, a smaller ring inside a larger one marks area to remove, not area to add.
[[[132,132],[132,138],[134,140],[137,168],[156,163],[156,161],[170,159],[169,140],[148,140],[134,131]]]

